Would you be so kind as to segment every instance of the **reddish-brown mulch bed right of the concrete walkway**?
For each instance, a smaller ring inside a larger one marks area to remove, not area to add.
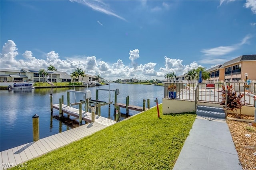
[[[228,117],[234,117],[232,114],[228,114]],[[254,120],[254,116],[244,115],[243,119]],[[238,153],[239,160],[244,170],[256,169],[256,127],[248,122],[227,120],[228,127],[236,151]],[[250,137],[246,137],[246,134],[250,134]],[[246,148],[247,147],[247,148]]]

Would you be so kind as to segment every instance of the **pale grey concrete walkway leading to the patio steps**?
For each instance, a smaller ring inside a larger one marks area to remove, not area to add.
[[[197,116],[173,170],[242,170],[226,120]]]

